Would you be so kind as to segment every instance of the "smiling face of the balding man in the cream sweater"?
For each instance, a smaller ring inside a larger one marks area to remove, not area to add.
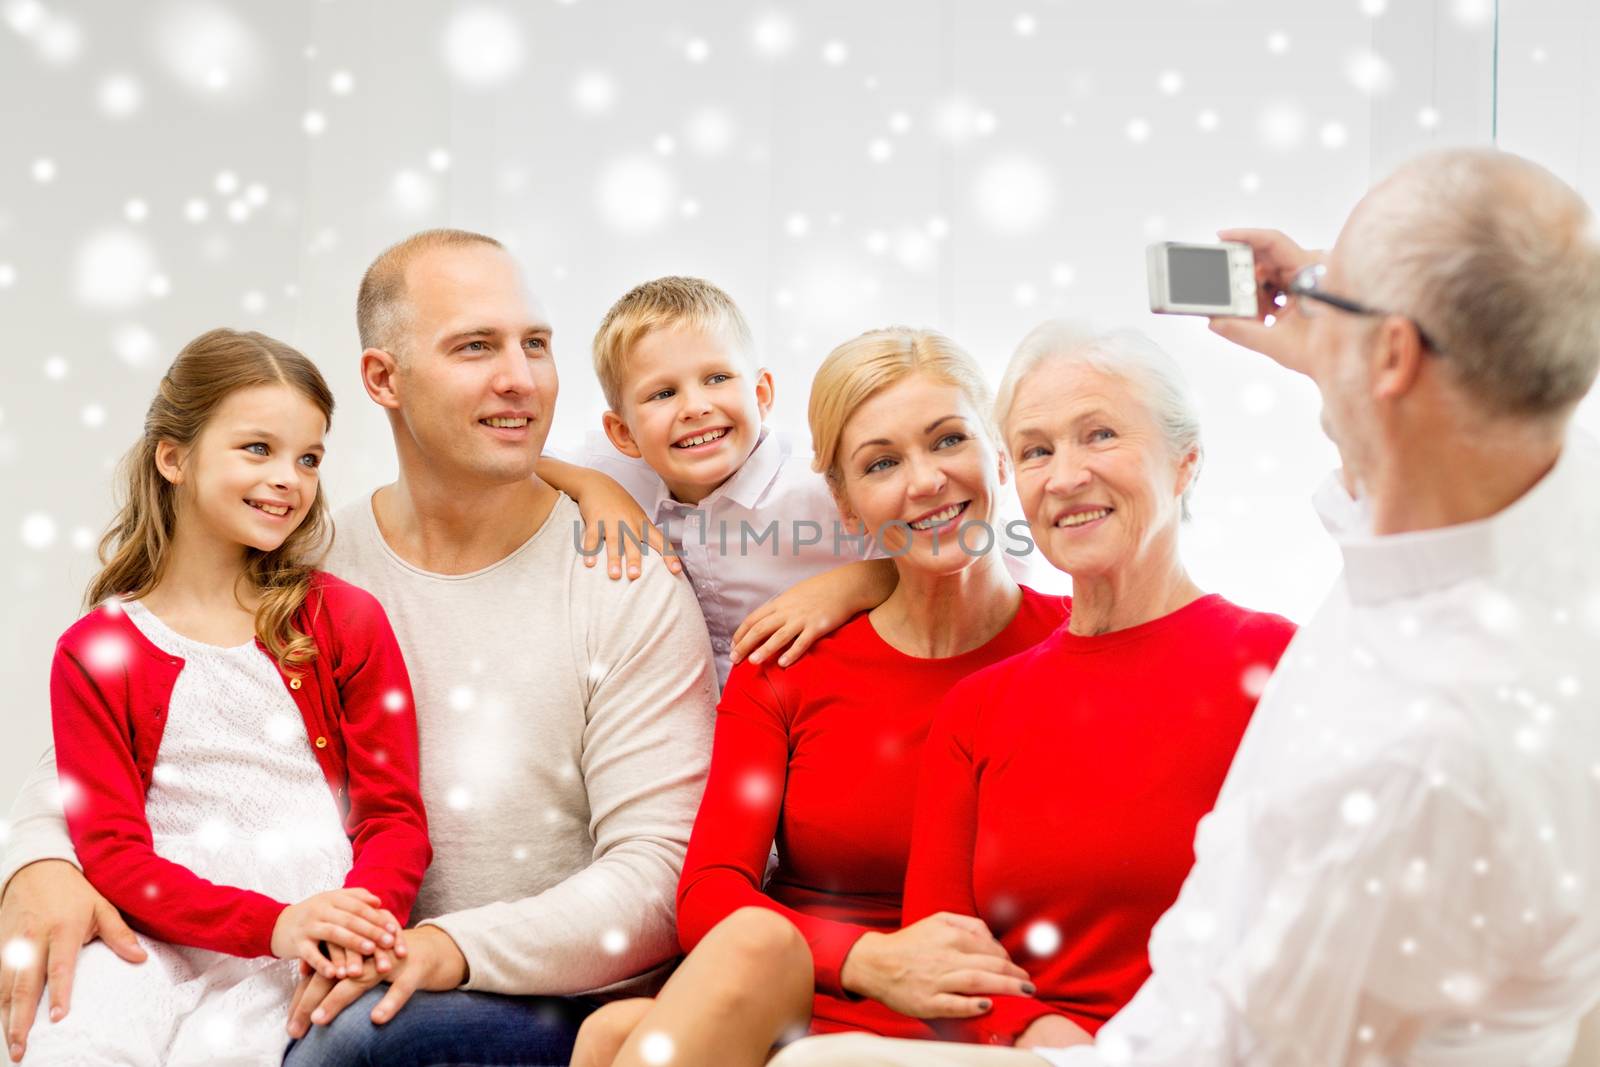
[[[558,389],[550,325],[515,261],[488,243],[427,248],[405,267],[390,376],[397,443],[453,480],[533,477]]]

